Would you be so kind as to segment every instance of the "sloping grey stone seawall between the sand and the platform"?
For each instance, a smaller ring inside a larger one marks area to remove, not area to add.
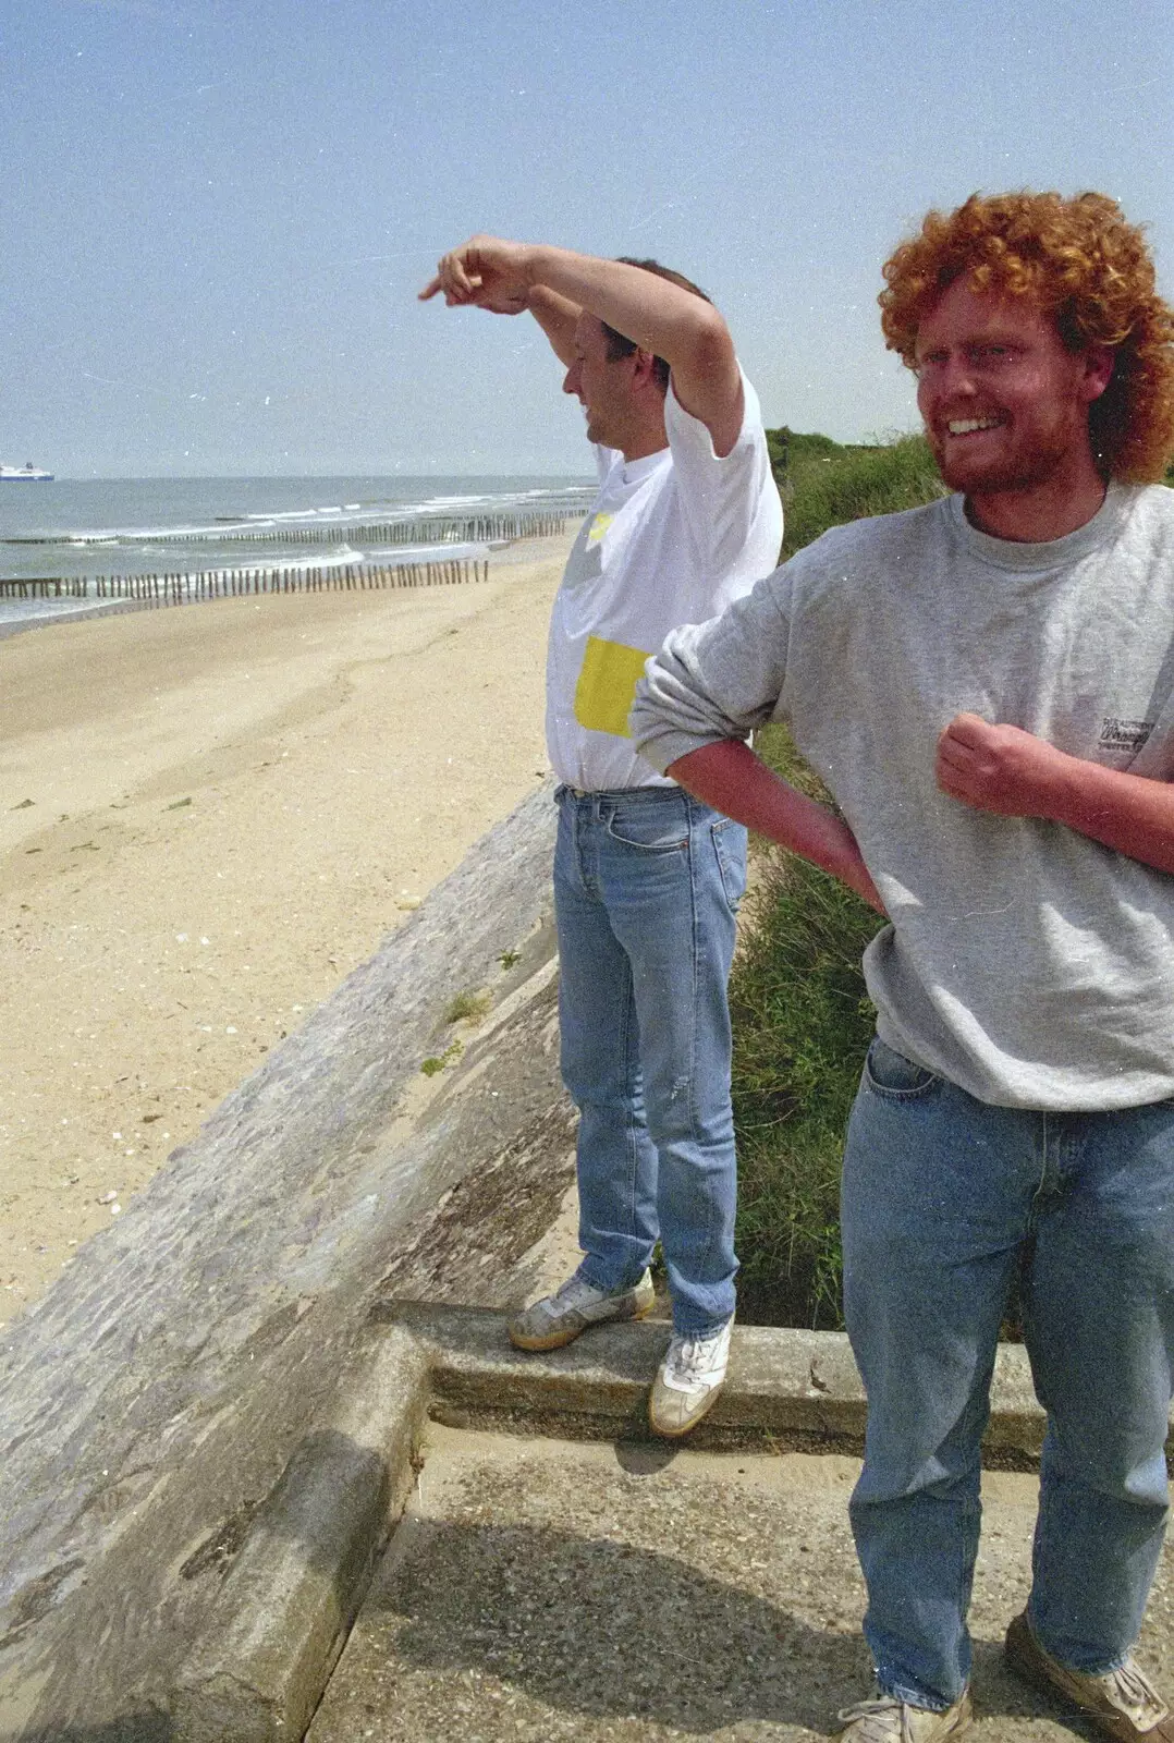
[[[547,788],[5,1333],[5,1743],[169,1734],[165,1691],[233,1546],[361,1372],[385,1276],[496,1306],[526,1293],[519,1260],[571,1175],[552,831]],[[477,988],[493,1011],[448,1025]],[[462,1058],[422,1077],[462,1035]],[[469,1227],[462,1201],[484,1220]]]

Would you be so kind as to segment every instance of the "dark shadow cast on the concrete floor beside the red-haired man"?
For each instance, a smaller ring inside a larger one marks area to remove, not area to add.
[[[590,1736],[632,1717],[692,1736],[761,1722],[827,1734],[838,1708],[867,1692],[871,1666],[857,1630],[840,1631],[840,1618],[813,1626],[669,1550],[531,1525],[413,1520],[409,1536],[368,1600],[362,1640],[352,1640],[352,1652],[381,1666],[406,1734],[448,1734],[428,1722],[437,1677],[453,1689],[467,1689],[470,1675],[474,1685],[507,1685],[580,1719]],[[988,1720],[1056,1717],[1003,1670],[1002,1645],[977,1644],[974,1680]],[[413,1684],[423,1710],[415,1710]]]

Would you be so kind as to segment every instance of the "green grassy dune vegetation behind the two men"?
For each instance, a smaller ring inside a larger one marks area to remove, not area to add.
[[[921,436],[876,446],[791,431],[766,439],[786,504],[784,556],[829,526],[942,492]],[[829,802],[784,727],[766,727],[754,748]],[[754,854],[730,980],[739,1293],[758,1323],[838,1326],[843,1131],[874,1016],[860,957],[883,920],[805,859],[761,842]]]

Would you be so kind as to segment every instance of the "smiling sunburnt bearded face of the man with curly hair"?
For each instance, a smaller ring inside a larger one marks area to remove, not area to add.
[[[1082,500],[1092,492],[1096,512],[1104,486],[1089,406],[1108,385],[1111,352],[1069,352],[1054,321],[1026,298],[975,293],[956,279],[918,328],[916,373],[934,458],[949,488],[967,493],[979,525],[998,526],[1014,514],[1014,498],[1040,492]]]

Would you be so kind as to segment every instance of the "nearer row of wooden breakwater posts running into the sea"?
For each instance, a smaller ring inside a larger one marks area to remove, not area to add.
[[[488,558],[449,558],[430,563],[333,563],[320,568],[218,568],[162,575],[92,575],[80,580],[0,580],[0,598],[188,605],[195,600],[251,598],[258,593],[369,593],[383,587],[451,587],[488,579]]]

